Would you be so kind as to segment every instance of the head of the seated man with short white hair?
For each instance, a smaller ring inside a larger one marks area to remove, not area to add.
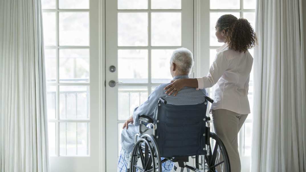
[[[178,48],[174,50],[170,59],[170,72],[172,77],[189,75],[192,66],[193,56],[189,49]]]

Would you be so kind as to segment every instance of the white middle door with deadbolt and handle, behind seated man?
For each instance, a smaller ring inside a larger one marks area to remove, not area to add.
[[[179,47],[193,52],[193,1],[106,0],[106,171],[117,170],[125,120],[172,79]]]

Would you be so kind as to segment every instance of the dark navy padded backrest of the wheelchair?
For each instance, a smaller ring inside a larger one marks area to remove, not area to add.
[[[186,100],[188,101],[188,100]],[[155,139],[162,157],[204,155],[207,100],[175,106],[160,99]]]

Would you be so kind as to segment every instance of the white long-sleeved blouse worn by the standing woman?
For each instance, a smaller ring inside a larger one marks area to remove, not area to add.
[[[249,114],[248,84],[253,57],[247,51],[239,52],[229,49],[225,43],[217,49],[217,55],[207,76],[196,78],[198,89],[216,85],[214,103],[211,110],[227,109],[238,114]]]

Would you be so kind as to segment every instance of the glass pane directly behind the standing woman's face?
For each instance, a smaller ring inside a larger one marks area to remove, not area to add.
[[[216,37],[216,22],[219,17],[221,17],[224,14],[232,14],[236,16],[237,18],[240,18],[240,13],[210,13],[210,45],[211,46],[222,46],[224,43],[218,42],[218,39]]]

